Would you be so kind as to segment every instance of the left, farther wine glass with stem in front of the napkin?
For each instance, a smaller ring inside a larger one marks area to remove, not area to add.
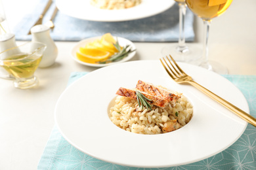
[[[161,50],[162,56],[171,56],[176,61],[182,61],[186,63],[194,63],[202,56],[200,48],[198,46],[191,46],[185,43],[184,35],[184,18],[186,15],[186,2],[185,0],[175,0],[179,5],[179,42],[178,44],[172,44],[165,46]]]

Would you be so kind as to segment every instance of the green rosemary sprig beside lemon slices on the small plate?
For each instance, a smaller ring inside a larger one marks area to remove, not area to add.
[[[131,48],[129,48],[130,45],[127,45],[127,46],[123,47],[123,49],[122,49],[121,46],[119,45],[118,40],[116,41],[116,44],[114,44],[114,46],[116,47],[118,52],[116,52],[115,54],[110,56],[110,58],[108,58],[108,59],[106,59],[104,61],[98,61],[98,63],[110,63],[110,62],[119,61],[119,60],[127,57],[131,52],[135,51],[135,50],[131,50]]]

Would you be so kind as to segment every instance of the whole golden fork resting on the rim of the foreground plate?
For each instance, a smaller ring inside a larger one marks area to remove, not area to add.
[[[236,115],[238,115],[240,118],[244,119],[249,124],[252,124],[253,126],[256,127],[256,118],[254,118],[250,114],[247,114],[243,110],[241,110],[238,107],[232,105],[231,103],[229,103],[225,99],[219,97],[215,93],[207,90],[206,88],[204,88],[203,86],[201,86],[200,84],[195,82],[192,79],[191,76],[188,76],[186,73],[184,73],[184,71],[182,71],[181,67],[179,67],[179,65],[171,57],[171,55],[169,55],[169,56],[170,56],[171,59],[169,59],[166,56],[166,59],[163,58],[163,59],[160,59],[160,61],[161,61],[161,64],[163,65],[163,67],[165,68],[165,71],[167,71],[168,75],[171,76],[171,78],[173,78],[173,80],[175,80],[175,82],[177,82],[177,83],[186,82],[188,84],[191,84],[192,86],[198,88],[198,90],[201,90],[203,93],[205,93],[206,95],[208,95],[209,97],[211,97],[212,99],[214,99],[215,101],[217,101],[218,103],[220,103],[221,105],[226,107],[227,109],[234,112]]]

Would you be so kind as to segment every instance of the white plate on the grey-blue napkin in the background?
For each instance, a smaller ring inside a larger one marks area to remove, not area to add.
[[[75,18],[99,22],[119,22],[137,20],[159,14],[174,5],[173,0],[142,0],[142,3],[130,9],[106,10],[98,9],[90,4],[90,0],[56,0],[58,9]]]

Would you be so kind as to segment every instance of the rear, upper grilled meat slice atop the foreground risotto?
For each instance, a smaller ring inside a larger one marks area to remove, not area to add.
[[[146,92],[150,95],[154,95],[157,97],[161,97],[171,104],[171,106],[175,106],[176,101],[181,97],[179,95],[176,95],[175,93],[168,92],[167,90],[160,88],[158,86],[154,86],[153,84],[142,82],[142,80],[139,80],[137,82],[136,88],[140,90],[141,92]]]

